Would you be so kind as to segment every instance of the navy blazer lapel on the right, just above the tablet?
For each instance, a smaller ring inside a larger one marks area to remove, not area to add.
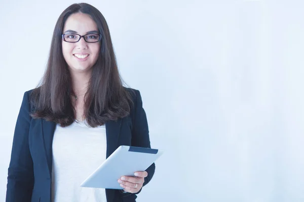
[[[108,158],[118,147],[118,139],[122,126],[122,119],[117,121],[107,121],[106,130],[106,158]]]

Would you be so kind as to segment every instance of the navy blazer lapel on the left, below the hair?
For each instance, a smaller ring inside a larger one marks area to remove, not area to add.
[[[53,164],[53,154],[52,154],[52,143],[54,137],[54,131],[56,123],[53,121],[46,121],[42,119],[42,137],[45,146],[45,153],[49,167],[50,177],[52,176],[52,164]]]

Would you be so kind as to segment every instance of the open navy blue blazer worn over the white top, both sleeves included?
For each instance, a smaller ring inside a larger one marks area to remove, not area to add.
[[[105,123],[106,158],[120,145],[150,148],[148,124],[140,92],[130,88],[128,90],[135,92],[131,93],[134,105],[130,114]],[[7,202],[51,202],[52,141],[56,123],[30,117],[31,91],[24,93],[16,122],[8,169]],[[146,171],[148,176],[143,185],[153,177],[155,164]],[[137,197],[135,193],[123,193],[118,189],[106,189],[105,192],[107,202],[133,202]]]

